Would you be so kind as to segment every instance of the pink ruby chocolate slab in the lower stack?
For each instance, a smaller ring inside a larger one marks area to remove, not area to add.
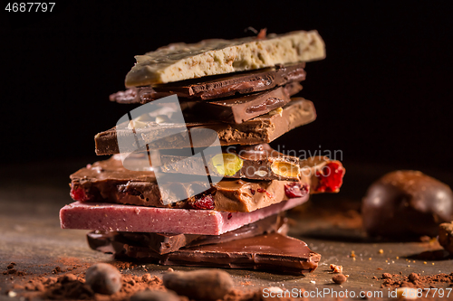
[[[292,209],[308,195],[254,212],[168,209],[105,202],[72,202],[60,210],[62,229],[218,235]]]

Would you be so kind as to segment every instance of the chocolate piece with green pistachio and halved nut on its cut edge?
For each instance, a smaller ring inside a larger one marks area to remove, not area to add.
[[[165,151],[160,153],[160,169],[169,174],[205,175],[208,170],[209,175],[214,177],[266,181],[299,181],[301,179],[299,158],[281,154],[268,144],[224,146],[223,154],[205,155],[207,169],[201,157],[168,155]]]

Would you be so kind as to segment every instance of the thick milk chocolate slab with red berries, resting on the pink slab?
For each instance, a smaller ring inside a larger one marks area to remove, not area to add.
[[[136,154],[136,160],[148,160]],[[302,197],[309,191],[307,183],[293,181],[244,181],[224,179],[218,183],[187,180],[172,174],[159,177],[153,172],[130,171],[121,163],[120,155],[88,165],[71,175],[71,197],[80,202],[114,202],[162,208],[208,209],[225,212],[253,212],[276,202]],[[195,176],[197,177],[197,176]],[[165,183],[166,178],[168,179]],[[294,186],[300,193],[286,193]],[[203,193],[193,195],[194,191]],[[182,200],[165,204],[164,200]]]

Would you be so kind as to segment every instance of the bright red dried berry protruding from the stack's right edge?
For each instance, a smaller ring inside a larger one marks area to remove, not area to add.
[[[342,187],[344,168],[337,162],[328,163],[321,171],[316,172],[318,186],[315,191],[318,193],[336,193]]]

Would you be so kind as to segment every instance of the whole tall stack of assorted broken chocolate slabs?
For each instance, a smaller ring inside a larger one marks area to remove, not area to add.
[[[313,271],[321,255],[286,236],[284,212],[311,193],[338,192],[344,169],[268,143],[315,119],[311,101],[292,97],[305,62],[324,56],[315,31],[176,43],[137,56],[129,89],[111,100],[146,108],[176,95],[177,106],[132,110],[95,136],[96,154],[112,156],[71,175],[75,202],[61,210],[62,228],[93,230],[90,247],[117,258]],[[207,135],[195,142],[197,131]],[[208,151],[213,141],[217,152]]]

